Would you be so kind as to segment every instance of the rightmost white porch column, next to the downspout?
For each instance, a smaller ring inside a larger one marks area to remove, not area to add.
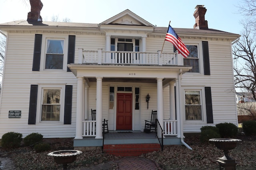
[[[183,120],[182,120],[182,113],[180,113],[180,75],[176,79],[176,111],[177,111],[177,137],[182,136],[182,129],[183,129]]]

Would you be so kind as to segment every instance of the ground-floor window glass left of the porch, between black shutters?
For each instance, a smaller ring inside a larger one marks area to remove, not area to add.
[[[60,121],[60,89],[43,89],[41,121]]]

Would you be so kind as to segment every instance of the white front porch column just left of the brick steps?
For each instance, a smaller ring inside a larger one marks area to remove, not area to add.
[[[102,78],[96,77],[96,139],[102,137]]]

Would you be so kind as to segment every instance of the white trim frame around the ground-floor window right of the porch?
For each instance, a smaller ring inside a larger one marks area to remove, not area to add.
[[[185,115],[185,91],[200,91],[200,102],[202,106],[202,120],[186,120],[186,115]],[[184,123],[206,123],[206,104],[205,104],[205,92],[204,92],[204,87],[184,87],[182,88],[182,98],[183,98],[183,107],[182,107],[182,113],[183,114],[183,121]]]

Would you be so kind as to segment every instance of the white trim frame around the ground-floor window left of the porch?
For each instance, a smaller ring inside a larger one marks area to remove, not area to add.
[[[60,121],[41,121],[42,118],[42,101],[44,89],[60,89]],[[64,123],[64,105],[65,105],[65,84],[39,84],[36,123]]]

